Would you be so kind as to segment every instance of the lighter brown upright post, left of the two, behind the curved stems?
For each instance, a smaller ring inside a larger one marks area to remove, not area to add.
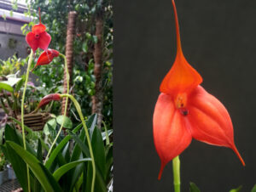
[[[69,73],[69,83],[71,84],[72,80],[72,71],[73,71],[73,39],[74,39],[74,33],[75,33],[75,21],[76,21],[76,16],[77,13],[75,11],[71,11],[68,13],[68,21],[67,21],[67,40],[66,40],[66,58],[67,58],[67,69]],[[69,86],[70,88],[71,86]],[[64,71],[64,90],[63,93],[67,93],[67,74],[66,70]],[[62,110],[61,113],[64,115],[64,110],[65,110],[65,104],[66,104],[66,99],[62,99]],[[69,102],[67,104],[67,115],[68,116],[68,111],[69,111]]]

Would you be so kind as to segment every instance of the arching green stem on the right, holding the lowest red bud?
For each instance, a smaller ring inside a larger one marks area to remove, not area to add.
[[[90,150],[90,158],[91,158],[91,163],[92,163],[91,192],[94,192],[94,185],[95,185],[95,178],[96,178],[96,165],[95,165],[95,159],[94,159],[94,155],[93,155],[93,151],[92,151],[92,147],[91,147],[91,143],[90,143],[90,135],[88,133],[88,127],[85,124],[84,116],[82,114],[82,110],[81,110],[81,107],[79,105],[79,102],[76,99],[74,99],[74,97],[70,94],[61,94],[61,97],[67,97],[67,98],[72,100],[73,104],[76,107],[76,110],[79,113],[79,117],[82,121],[84,131],[85,131],[85,134],[86,134],[86,139],[87,139],[88,146],[89,146],[89,150]]]

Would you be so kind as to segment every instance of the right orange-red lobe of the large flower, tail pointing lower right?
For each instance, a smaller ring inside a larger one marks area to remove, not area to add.
[[[188,109],[193,138],[207,144],[231,148],[241,163],[245,165],[241,155],[236,150],[229,112],[218,99],[198,86],[190,94]]]

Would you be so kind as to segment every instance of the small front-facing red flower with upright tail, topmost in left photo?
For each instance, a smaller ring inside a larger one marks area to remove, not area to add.
[[[49,46],[49,42],[51,37],[45,31],[46,27],[41,23],[41,14],[39,8],[39,24],[32,26],[32,31],[27,33],[26,42],[32,48],[33,52],[35,52],[38,48],[42,48],[46,50]]]

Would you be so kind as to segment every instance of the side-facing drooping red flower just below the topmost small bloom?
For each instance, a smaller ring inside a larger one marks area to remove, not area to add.
[[[55,57],[59,56],[59,52],[54,50],[54,49],[48,49],[43,52],[43,54],[40,54],[38,58],[37,64],[34,66],[32,71],[36,69],[37,66],[39,65],[48,65]]]

